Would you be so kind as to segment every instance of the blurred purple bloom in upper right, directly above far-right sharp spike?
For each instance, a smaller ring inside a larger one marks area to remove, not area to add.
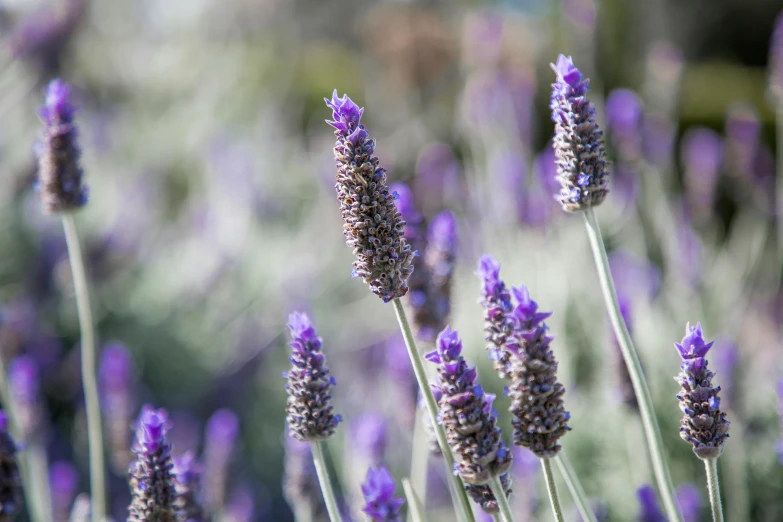
[[[681,157],[688,202],[696,212],[707,213],[715,198],[723,162],[723,140],[705,127],[690,128],[682,138]]]

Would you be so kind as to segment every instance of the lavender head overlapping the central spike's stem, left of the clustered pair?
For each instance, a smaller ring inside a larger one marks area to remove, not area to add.
[[[508,471],[513,460],[497,426],[497,412],[492,408],[495,396],[476,384],[476,369],[465,362],[457,332],[447,326],[438,335],[436,347],[425,357],[438,364],[435,388],[442,394],[440,422],[454,451],[455,471],[467,484],[486,484],[493,475]]]

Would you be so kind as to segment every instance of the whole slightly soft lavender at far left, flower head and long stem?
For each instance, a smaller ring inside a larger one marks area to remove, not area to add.
[[[103,429],[96,375],[97,349],[92,320],[92,306],[87,273],[73,212],[87,203],[87,187],[82,182],[81,155],[74,122],[76,108],[71,103],[71,88],[62,80],[53,80],[46,92],[46,103],[40,111],[44,120],[38,154],[36,188],[44,212],[59,214],[68,244],[68,256],[79,312],[82,352],[82,385],[87,410],[90,450],[90,486],[93,522],[103,522],[106,514]]]

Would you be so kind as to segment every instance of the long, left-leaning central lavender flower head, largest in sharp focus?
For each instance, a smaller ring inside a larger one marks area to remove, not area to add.
[[[354,273],[370,285],[372,292],[389,302],[408,292],[413,272],[413,251],[403,237],[402,220],[394,197],[386,184],[386,171],[373,155],[375,140],[361,124],[363,108],[348,95],[326,99],[334,120],[337,142],[337,198],[342,212],[343,231],[356,261]]]

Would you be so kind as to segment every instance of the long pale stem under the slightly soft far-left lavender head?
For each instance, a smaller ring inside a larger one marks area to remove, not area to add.
[[[87,273],[79,244],[76,223],[70,213],[62,214],[65,241],[68,245],[68,259],[71,263],[73,286],[76,292],[76,307],[79,312],[82,348],[82,387],[87,409],[87,435],[90,447],[90,494],[92,499],[92,521],[103,522],[106,516],[106,475],[103,462],[103,429],[101,428],[101,405],[98,398],[96,375],[97,350],[93,329],[90,292]]]

